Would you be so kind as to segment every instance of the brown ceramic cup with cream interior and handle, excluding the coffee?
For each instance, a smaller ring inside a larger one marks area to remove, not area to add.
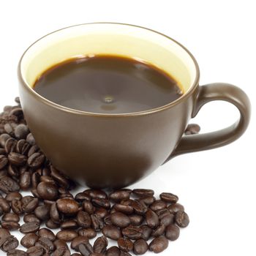
[[[65,108],[31,87],[45,69],[81,54],[115,54],[143,59],[170,73],[184,94],[159,108],[124,113],[89,113]],[[18,67],[20,100],[29,128],[50,161],[89,187],[125,187],[178,154],[224,146],[249,124],[249,99],[236,86],[199,86],[199,68],[189,51],[156,31],[119,23],[89,23],[61,29],[34,42]],[[230,127],[184,135],[189,120],[213,100],[240,111]]]

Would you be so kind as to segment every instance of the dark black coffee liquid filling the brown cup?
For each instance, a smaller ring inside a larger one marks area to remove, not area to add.
[[[69,59],[46,70],[34,84],[42,97],[75,110],[132,113],[181,97],[176,80],[151,64],[121,56]]]

